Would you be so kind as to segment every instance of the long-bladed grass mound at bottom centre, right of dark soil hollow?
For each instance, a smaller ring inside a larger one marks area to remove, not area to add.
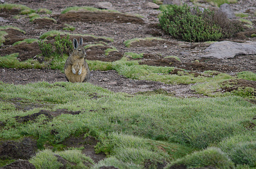
[[[151,168],[156,167],[157,163],[170,162],[193,151],[193,149],[179,144],[168,144],[163,141],[115,133],[109,134],[107,139],[103,139],[96,149],[97,152],[104,152],[125,163],[143,165],[150,159]]]

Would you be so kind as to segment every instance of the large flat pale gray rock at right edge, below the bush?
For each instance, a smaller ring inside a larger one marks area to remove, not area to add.
[[[239,55],[255,55],[256,42],[215,42],[207,47],[203,52],[205,52],[205,55],[202,55],[202,57],[215,57],[218,59],[228,59]]]

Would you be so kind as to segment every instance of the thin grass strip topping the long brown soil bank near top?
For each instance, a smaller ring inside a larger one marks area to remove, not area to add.
[[[61,14],[66,14],[68,12],[74,12],[74,11],[89,11],[89,12],[114,12],[114,13],[120,13],[116,10],[100,10],[98,8],[94,7],[89,7],[89,6],[83,6],[83,7],[78,7],[78,6],[73,6],[73,7],[67,7],[64,9]]]

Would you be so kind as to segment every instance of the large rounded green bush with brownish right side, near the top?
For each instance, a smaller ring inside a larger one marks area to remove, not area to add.
[[[216,41],[242,30],[241,24],[227,19],[222,12],[202,12],[198,7],[188,5],[163,8],[159,22],[165,32],[188,42]]]

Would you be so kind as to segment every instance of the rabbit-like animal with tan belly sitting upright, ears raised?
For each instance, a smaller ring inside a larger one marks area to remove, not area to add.
[[[69,82],[88,82],[90,79],[90,70],[88,64],[85,61],[86,52],[83,47],[83,39],[80,38],[80,44],[77,40],[73,40],[75,49],[68,57],[65,66],[64,73]],[[72,71],[73,69],[73,71]],[[79,74],[79,71],[81,74]],[[75,73],[74,73],[75,72]]]

